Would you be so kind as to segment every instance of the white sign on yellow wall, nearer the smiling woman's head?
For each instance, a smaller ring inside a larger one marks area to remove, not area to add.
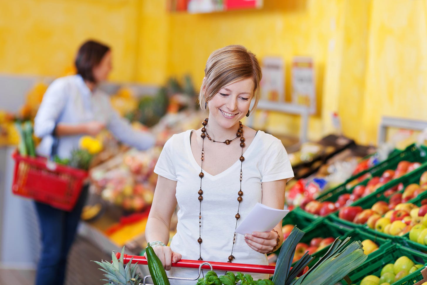
[[[273,102],[285,101],[283,59],[265,57],[262,64],[261,99]]]

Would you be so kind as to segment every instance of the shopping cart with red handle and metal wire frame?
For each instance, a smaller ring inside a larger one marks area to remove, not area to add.
[[[120,253],[116,253],[117,259],[120,259]],[[147,265],[147,259],[144,256],[132,256],[129,254],[123,254],[123,263],[128,264],[132,259],[132,264],[138,263]],[[246,272],[246,273],[264,273],[264,274],[273,274],[275,270],[275,266],[273,265],[258,265],[258,264],[243,264],[243,263],[230,263],[230,262],[215,262],[215,261],[199,261],[199,260],[187,260],[181,259],[176,263],[172,263],[173,267],[181,267],[181,268],[193,268],[199,269],[199,273],[195,278],[183,278],[183,277],[171,277],[168,276],[169,279],[178,279],[178,280],[193,280],[197,281],[202,274],[202,269],[209,270],[221,270],[221,271],[238,271],[238,272]],[[292,268],[292,267],[291,267]],[[308,267],[305,267],[298,276],[306,273]],[[146,279],[151,278],[150,275],[144,276],[143,285],[152,285],[150,283],[146,283]],[[237,283],[239,284],[239,283]]]

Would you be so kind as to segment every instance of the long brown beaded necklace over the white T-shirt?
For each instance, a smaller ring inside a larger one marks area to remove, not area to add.
[[[201,170],[199,173],[199,177],[200,177],[200,190],[198,191],[199,194],[199,238],[197,239],[197,242],[199,243],[199,260],[203,260],[202,259],[202,236],[201,236],[201,229],[202,229],[202,200],[203,200],[203,190],[202,190],[202,178],[203,176],[205,176],[205,174],[203,174],[203,158],[205,156],[205,149],[204,149],[204,142],[205,142],[205,138],[207,137],[210,141],[213,142],[221,142],[224,144],[230,144],[231,141],[234,141],[236,138],[240,137],[240,147],[242,148],[242,155],[240,156],[240,190],[237,192],[237,201],[239,202],[238,207],[237,207],[237,214],[234,216],[236,218],[236,226],[234,228],[237,229],[237,220],[240,219],[240,214],[239,214],[239,209],[240,209],[240,202],[243,201],[243,191],[242,191],[242,165],[243,165],[243,161],[245,160],[245,158],[243,157],[243,147],[245,147],[245,138],[243,138],[243,125],[242,122],[239,121],[239,129],[237,130],[236,133],[236,137],[233,138],[232,140],[225,140],[225,141],[214,141],[213,139],[211,139],[211,137],[209,137],[208,132],[206,132],[206,125],[208,124],[208,118],[206,118],[203,122],[202,122],[202,134],[200,135],[202,137],[202,166],[201,166]],[[230,256],[228,256],[228,261],[227,262],[231,262],[234,259],[233,256],[233,249],[234,249],[234,243],[236,241],[236,232],[234,232],[234,236],[233,236],[233,246],[231,247],[231,254]]]

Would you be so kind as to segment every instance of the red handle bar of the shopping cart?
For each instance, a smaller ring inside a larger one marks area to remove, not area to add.
[[[120,259],[120,253],[116,253],[117,259]],[[132,259],[132,263],[148,264],[147,259],[144,256],[131,256],[123,254],[123,263],[127,264]],[[199,268],[203,262],[209,262],[212,265],[213,270],[223,271],[242,271],[249,273],[267,273],[274,274],[275,266],[273,265],[258,265],[258,264],[242,264],[242,263],[231,263],[231,262],[215,262],[215,261],[200,261],[200,260],[186,260],[181,259],[176,263],[172,263],[173,267],[184,267],[184,268]],[[208,265],[203,265],[203,269],[211,269]],[[305,267],[301,274],[306,273],[308,267]],[[298,274],[299,276],[299,274]]]

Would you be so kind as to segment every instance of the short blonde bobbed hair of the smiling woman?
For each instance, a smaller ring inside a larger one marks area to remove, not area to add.
[[[205,78],[199,93],[199,104],[205,110],[205,103],[224,86],[246,78],[254,80],[254,106],[260,100],[260,81],[262,77],[260,63],[256,56],[242,45],[229,45],[213,51],[206,62]]]

